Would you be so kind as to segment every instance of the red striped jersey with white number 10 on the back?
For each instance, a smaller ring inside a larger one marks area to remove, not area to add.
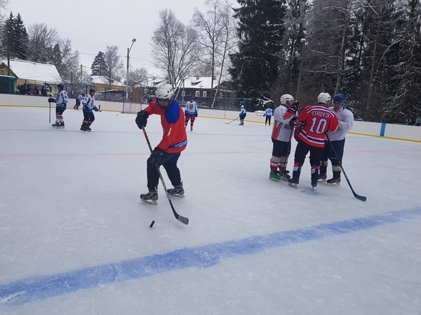
[[[322,105],[310,105],[298,116],[299,123],[305,123],[300,127],[298,138],[310,146],[324,148],[324,139],[327,131],[335,132],[339,121],[335,111]]]

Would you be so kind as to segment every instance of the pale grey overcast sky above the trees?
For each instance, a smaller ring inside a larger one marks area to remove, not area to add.
[[[229,1],[238,6],[235,0]],[[136,38],[130,52],[131,67],[145,66],[149,73],[160,75],[152,66],[150,43],[152,32],[158,27],[158,12],[165,8],[173,10],[186,25],[192,20],[194,8],[206,11],[205,0],[11,0],[8,10],[2,13],[6,18],[10,12],[15,16],[20,13],[27,30],[36,23],[56,29],[60,38],[72,41],[73,50],[79,50],[83,66],[91,66],[98,52],[104,52],[107,45],[116,45],[126,69],[127,48]]]

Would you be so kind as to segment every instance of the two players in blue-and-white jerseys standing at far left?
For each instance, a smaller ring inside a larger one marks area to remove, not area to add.
[[[51,125],[55,128],[64,128],[65,127],[65,120],[63,119],[63,113],[67,108],[67,102],[69,102],[69,97],[67,96],[67,92],[65,91],[65,86],[62,83],[57,85],[58,93],[55,99],[50,97],[48,102],[55,103],[55,123]],[[95,116],[93,115],[93,111],[99,111],[97,106],[95,106],[95,90],[89,90],[89,94],[80,94],[76,98],[76,105],[74,105],[73,109],[79,109],[80,104],[83,105],[83,121],[81,125],[81,131],[83,132],[91,132],[91,125],[93,120],[95,120]]]

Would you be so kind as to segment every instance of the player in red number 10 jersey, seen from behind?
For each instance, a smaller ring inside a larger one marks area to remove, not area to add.
[[[335,132],[338,129],[338,118],[335,111],[328,109],[326,104],[306,106],[298,116],[298,141],[295,148],[293,177],[288,179],[289,186],[297,188],[300,182],[301,167],[305,156],[310,152],[310,165],[312,167],[312,188],[317,186],[319,180],[319,167],[323,155],[324,138],[326,132]]]

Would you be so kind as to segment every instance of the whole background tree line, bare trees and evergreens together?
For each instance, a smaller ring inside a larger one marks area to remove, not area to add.
[[[281,94],[311,104],[320,92],[342,92],[356,118],[405,123],[421,116],[420,0],[237,3],[206,0],[206,12],[195,9],[187,24],[172,10],[159,11],[151,57],[168,83],[180,87],[187,76],[211,76],[217,97],[222,81],[230,80],[224,87],[252,98],[253,110],[278,105]],[[69,39],[44,24],[25,35],[22,18],[11,13],[0,36],[2,55],[10,45],[21,59],[53,62],[66,82],[88,78]],[[118,48],[98,52],[91,71],[109,83],[122,80]],[[150,80],[145,69],[131,69],[128,84]]]

